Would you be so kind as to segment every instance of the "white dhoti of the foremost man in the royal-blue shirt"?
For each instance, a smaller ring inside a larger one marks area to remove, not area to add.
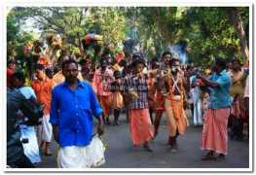
[[[97,167],[105,163],[104,152],[103,143],[95,136],[88,146],[60,148],[57,155],[57,166],[59,168]]]

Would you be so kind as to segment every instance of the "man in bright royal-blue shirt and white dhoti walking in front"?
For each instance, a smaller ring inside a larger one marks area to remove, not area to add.
[[[62,73],[65,82],[53,89],[50,114],[55,141],[60,146],[58,166],[84,167],[82,162],[86,161],[93,135],[92,116],[98,121],[97,133],[103,134],[102,109],[91,85],[77,79],[75,60],[64,61]]]

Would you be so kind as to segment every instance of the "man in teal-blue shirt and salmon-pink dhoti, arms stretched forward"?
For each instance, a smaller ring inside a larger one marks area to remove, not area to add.
[[[216,58],[213,74],[208,78],[201,78],[202,83],[210,88],[209,106],[205,113],[202,129],[201,150],[209,151],[202,160],[222,160],[227,155],[228,147],[228,119],[231,108],[231,77],[226,71],[226,61]],[[214,152],[218,157],[214,157]]]

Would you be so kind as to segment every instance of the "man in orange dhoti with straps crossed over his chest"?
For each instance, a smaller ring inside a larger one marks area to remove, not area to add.
[[[165,111],[169,130],[169,140],[171,152],[177,151],[177,137],[185,133],[188,120],[183,108],[185,88],[184,77],[180,70],[178,59],[172,58],[170,61],[171,71],[165,75]]]

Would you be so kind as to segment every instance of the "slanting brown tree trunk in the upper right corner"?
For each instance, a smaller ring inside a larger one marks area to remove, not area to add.
[[[246,37],[245,37],[245,32],[243,29],[243,24],[242,24],[242,20],[240,18],[239,12],[238,12],[238,8],[229,8],[228,9],[229,15],[230,15],[230,19],[234,24],[234,28],[238,34],[238,38],[239,38],[239,44],[240,44],[240,52],[242,53],[242,55],[244,56],[244,58],[246,59],[246,61],[249,60],[249,49],[248,49],[248,45],[247,45],[247,41],[246,41]]]

